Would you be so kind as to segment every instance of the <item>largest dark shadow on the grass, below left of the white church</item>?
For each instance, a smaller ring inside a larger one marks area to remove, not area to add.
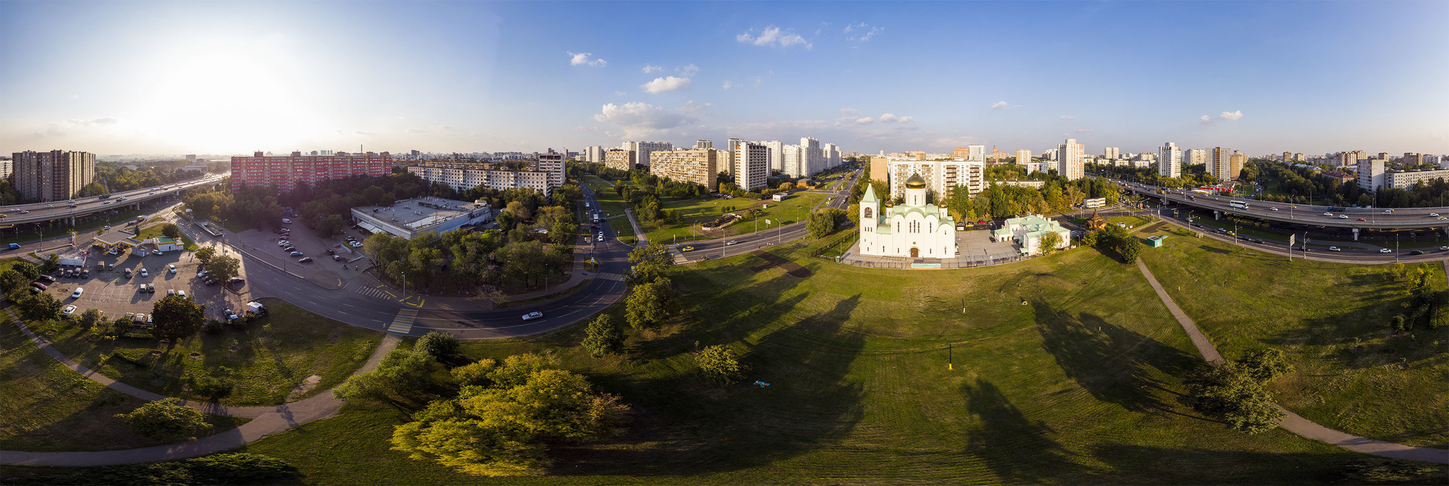
[[[865,338],[840,330],[858,304],[859,297],[842,299],[764,337],[742,357],[749,366],[742,383],[710,385],[694,370],[619,383],[629,388],[620,393],[635,409],[629,434],[606,447],[556,450],[556,473],[696,476],[759,467],[838,441],[862,417],[861,385],[845,376]]]

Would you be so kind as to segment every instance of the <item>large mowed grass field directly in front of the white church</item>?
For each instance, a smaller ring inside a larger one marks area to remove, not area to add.
[[[1371,460],[1179,405],[1178,378],[1206,364],[1136,268],[1094,250],[914,272],[806,252],[774,249],[807,278],[749,255],[677,270],[685,317],[630,331],[626,356],[590,357],[580,325],[465,343],[555,356],[633,408],[623,437],[555,448],[549,476],[410,460],[387,443],[407,412],[384,405],[246,450],[325,485],[1329,483]],[[742,354],[743,383],[696,376],[691,351],[711,344]]]

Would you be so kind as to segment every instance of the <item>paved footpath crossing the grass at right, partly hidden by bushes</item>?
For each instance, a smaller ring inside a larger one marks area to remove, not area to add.
[[[1177,302],[1172,302],[1172,297],[1169,297],[1168,292],[1162,289],[1162,285],[1158,284],[1158,279],[1155,276],[1152,276],[1152,270],[1148,270],[1148,265],[1143,263],[1142,259],[1137,259],[1137,269],[1142,270],[1142,276],[1148,278],[1148,285],[1152,285],[1152,289],[1158,292],[1158,298],[1162,299],[1162,304],[1168,307],[1168,311],[1172,312],[1172,317],[1178,320],[1178,324],[1182,325],[1182,330],[1187,331],[1187,336],[1193,338],[1193,346],[1195,346],[1197,351],[1203,354],[1203,359],[1214,364],[1222,363],[1223,356],[1219,354],[1217,349],[1213,347],[1213,343],[1208,341],[1206,336],[1203,336],[1203,331],[1197,328],[1197,324],[1194,324],[1193,320],[1187,317],[1187,314],[1182,314],[1182,310],[1177,307]],[[1449,269],[1449,263],[1446,263],[1446,269]],[[1278,409],[1284,412],[1284,418],[1278,421],[1278,427],[1282,427],[1284,430],[1303,435],[1306,438],[1324,441],[1337,447],[1348,448],[1355,453],[1449,464],[1449,450],[1445,448],[1403,446],[1403,444],[1372,440],[1366,437],[1349,435],[1319,425],[1307,418],[1300,417],[1298,414],[1284,409],[1282,406],[1278,406]]]

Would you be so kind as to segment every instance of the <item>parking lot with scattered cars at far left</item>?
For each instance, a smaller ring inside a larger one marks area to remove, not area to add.
[[[106,265],[113,265],[114,269],[101,269]],[[175,266],[175,273],[170,272],[171,265]],[[126,312],[151,314],[152,305],[167,297],[167,291],[184,291],[187,298],[204,304],[207,318],[222,320],[223,310],[238,310],[245,304],[242,295],[227,291],[223,284],[206,285],[199,279],[199,265],[191,252],[167,252],[159,256],[91,255],[81,268],[62,266],[52,272],[55,284],[45,292],[65,305],[75,305],[75,314],[96,308],[107,318],[123,317]],[[62,275],[67,269],[90,270],[90,278],[65,278]],[[130,278],[126,278],[125,269],[132,270]],[[142,276],[141,270],[146,275]],[[242,278],[246,276],[245,269],[241,273]],[[142,285],[154,285],[155,292],[142,292]],[[80,298],[71,298],[77,288],[85,291]],[[233,289],[245,289],[245,285],[235,285]]]

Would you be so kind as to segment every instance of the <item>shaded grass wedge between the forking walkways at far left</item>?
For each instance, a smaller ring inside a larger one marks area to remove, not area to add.
[[[13,311],[13,310],[12,310]],[[85,379],[41,351],[9,317],[0,324],[0,450],[90,451],[165,444],[116,418],[141,399]],[[207,415],[212,432],[245,418]]]

